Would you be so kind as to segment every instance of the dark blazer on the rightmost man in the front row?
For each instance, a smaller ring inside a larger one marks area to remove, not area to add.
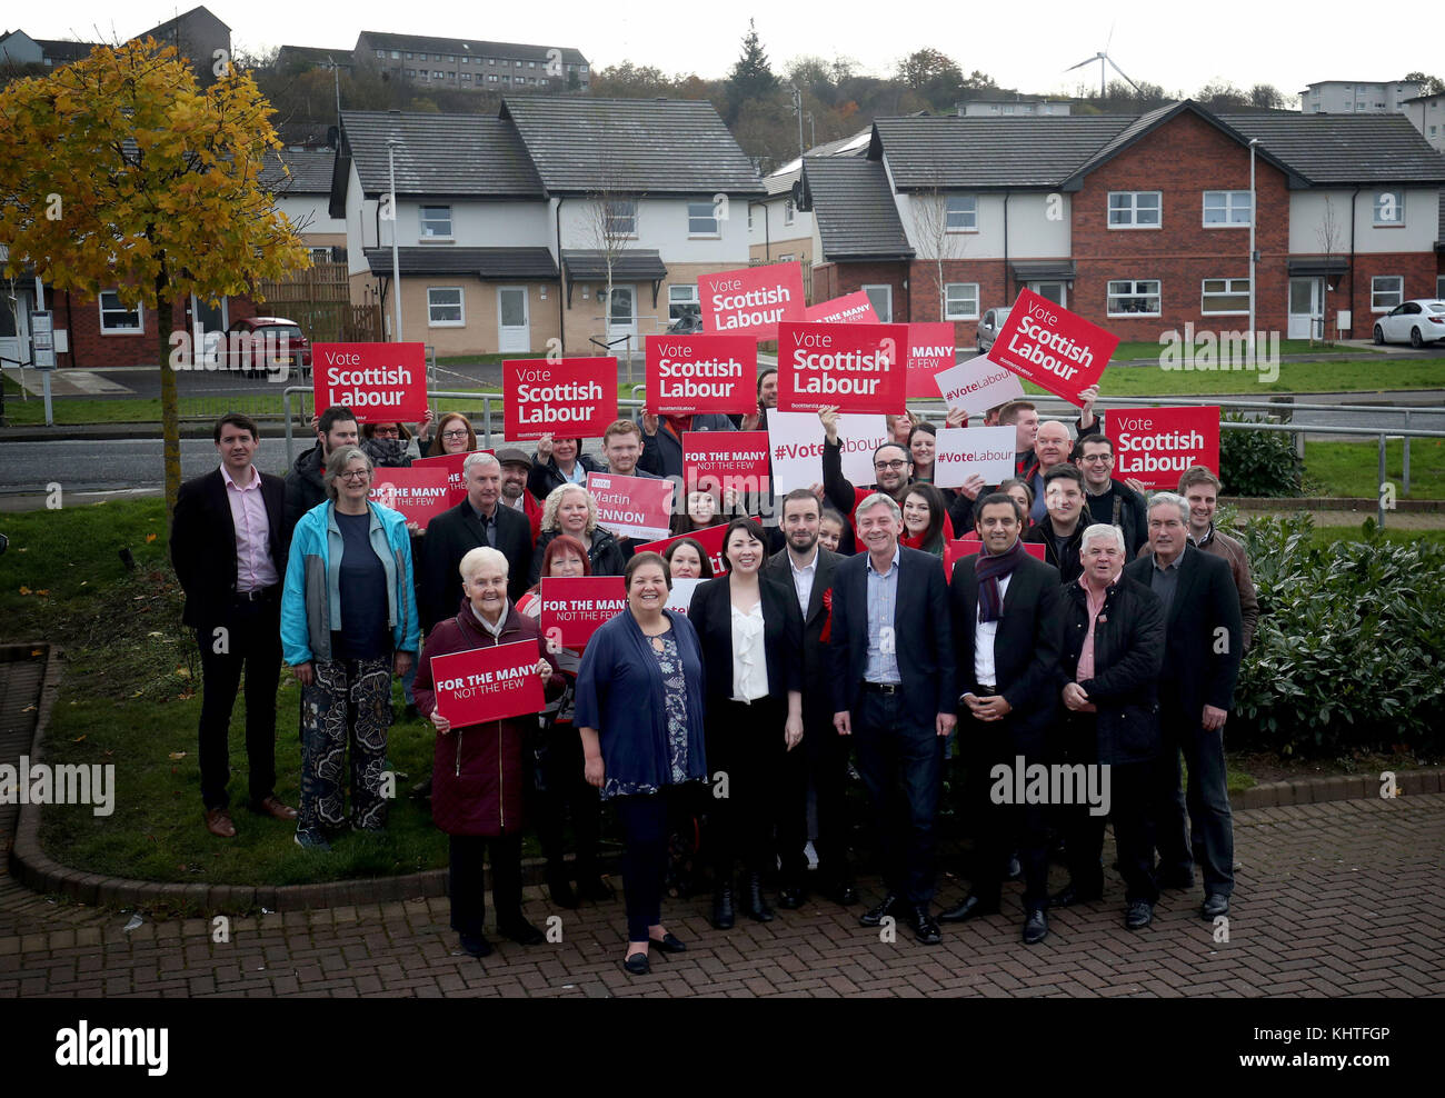
[[[1124,575],[1150,587],[1153,568],[1155,555],[1146,552],[1124,565]],[[1192,545],[1185,546],[1176,584],[1165,620],[1159,704],[1166,721],[1185,721],[1198,728],[1205,705],[1225,712],[1234,705],[1234,680],[1244,656],[1240,594],[1228,562]],[[1227,639],[1217,641],[1221,628]]]

